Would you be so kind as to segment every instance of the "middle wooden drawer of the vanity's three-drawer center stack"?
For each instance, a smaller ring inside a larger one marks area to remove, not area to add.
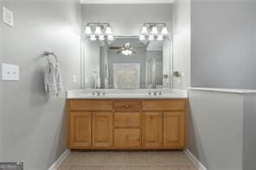
[[[139,112],[117,112],[115,113],[115,127],[118,128],[139,128]]]

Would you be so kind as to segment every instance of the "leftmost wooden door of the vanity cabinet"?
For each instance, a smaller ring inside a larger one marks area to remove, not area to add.
[[[91,113],[70,113],[70,147],[86,148],[91,146]]]

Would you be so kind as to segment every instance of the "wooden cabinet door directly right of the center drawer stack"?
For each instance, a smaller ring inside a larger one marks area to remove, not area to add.
[[[146,148],[162,147],[163,118],[162,112],[144,112],[144,137]]]

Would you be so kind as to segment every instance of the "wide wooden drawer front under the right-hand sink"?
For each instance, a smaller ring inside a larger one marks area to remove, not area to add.
[[[164,111],[164,110],[185,110],[186,100],[144,100],[142,110]]]

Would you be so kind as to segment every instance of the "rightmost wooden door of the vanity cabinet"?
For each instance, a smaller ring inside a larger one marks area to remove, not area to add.
[[[185,113],[163,112],[163,147],[182,148],[185,145]]]

